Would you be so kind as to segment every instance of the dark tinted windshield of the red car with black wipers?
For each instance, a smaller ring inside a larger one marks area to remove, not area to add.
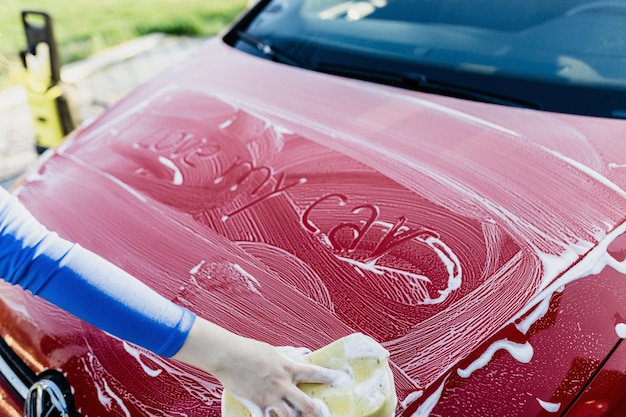
[[[626,118],[626,0],[274,0],[225,40],[315,71]]]

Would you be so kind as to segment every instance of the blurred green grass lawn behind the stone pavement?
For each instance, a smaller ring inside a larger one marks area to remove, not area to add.
[[[0,54],[5,58],[0,62],[0,87],[7,85],[8,68],[21,65],[19,52],[26,47],[22,10],[52,16],[59,58],[66,64],[154,32],[215,35],[245,4],[246,0],[0,0]]]

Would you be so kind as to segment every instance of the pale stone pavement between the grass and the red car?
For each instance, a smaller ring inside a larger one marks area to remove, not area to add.
[[[144,36],[64,66],[61,78],[84,122],[184,59],[205,41],[162,34]],[[35,130],[25,88],[0,91],[0,186],[9,188],[36,159]]]

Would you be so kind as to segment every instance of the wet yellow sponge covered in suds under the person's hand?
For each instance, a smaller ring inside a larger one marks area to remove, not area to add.
[[[389,353],[374,339],[354,333],[304,356],[307,363],[344,371],[344,380],[298,387],[326,403],[333,417],[390,417],[397,399],[388,359]],[[248,409],[224,390],[222,417],[250,416]]]

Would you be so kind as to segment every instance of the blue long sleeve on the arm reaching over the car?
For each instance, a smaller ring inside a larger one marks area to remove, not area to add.
[[[48,231],[1,188],[0,277],[165,357],[178,352],[195,320],[122,269]]]

